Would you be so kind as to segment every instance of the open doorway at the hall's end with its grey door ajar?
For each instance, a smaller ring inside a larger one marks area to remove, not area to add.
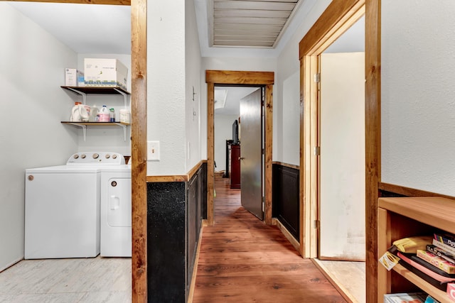
[[[263,87],[215,86],[215,179],[226,178],[229,188],[240,192],[242,206],[260,220],[264,219],[263,97]]]

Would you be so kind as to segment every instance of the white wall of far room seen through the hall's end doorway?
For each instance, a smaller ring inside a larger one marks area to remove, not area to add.
[[[232,123],[239,116],[236,115],[217,115],[215,113],[215,171],[228,170],[226,167],[226,140],[232,140]]]

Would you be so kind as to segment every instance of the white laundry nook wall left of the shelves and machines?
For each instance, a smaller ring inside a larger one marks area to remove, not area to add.
[[[62,165],[77,151],[60,88],[77,54],[0,2],[0,270],[23,258],[25,170]]]

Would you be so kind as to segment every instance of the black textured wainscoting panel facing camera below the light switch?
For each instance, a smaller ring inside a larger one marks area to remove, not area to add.
[[[149,302],[185,302],[186,182],[147,183]]]

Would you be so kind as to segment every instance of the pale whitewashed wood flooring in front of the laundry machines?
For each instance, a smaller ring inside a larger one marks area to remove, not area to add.
[[[22,260],[0,272],[0,302],[131,302],[131,258]]]

